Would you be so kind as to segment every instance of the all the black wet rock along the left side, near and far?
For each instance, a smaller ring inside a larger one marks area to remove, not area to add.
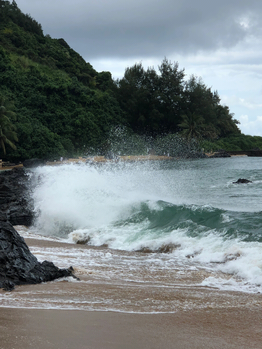
[[[30,225],[30,176],[23,168],[0,172],[0,288],[36,284],[72,276],[73,268],[59,269],[52,262],[38,262],[24,239],[12,227]],[[11,224],[12,223],[12,224]]]

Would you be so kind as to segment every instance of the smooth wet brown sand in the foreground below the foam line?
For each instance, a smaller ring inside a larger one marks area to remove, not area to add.
[[[260,349],[259,311],[129,314],[1,308],[2,349]]]

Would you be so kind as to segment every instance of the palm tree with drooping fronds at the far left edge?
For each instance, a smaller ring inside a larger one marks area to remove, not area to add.
[[[5,144],[16,150],[13,141],[18,141],[15,133],[16,127],[11,122],[11,119],[16,120],[16,114],[13,109],[14,102],[0,95],[0,149],[3,150],[4,155],[6,155]]]

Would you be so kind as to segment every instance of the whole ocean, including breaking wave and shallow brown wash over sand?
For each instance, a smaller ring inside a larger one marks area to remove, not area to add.
[[[15,228],[39,261],[72,265],[81,280],[19,286],[0,293],[1,306],[136,313],[258,306],[261,161],[235,156],[34,169],[36,219]],[[232,184],[238,178],[252,183]],[[139,252],[170,244],[171,253]]]

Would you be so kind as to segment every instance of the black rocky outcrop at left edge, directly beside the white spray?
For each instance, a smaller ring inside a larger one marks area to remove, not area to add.
[[[30,172],[22,167],[0,172],[0,207],[12,225],[30,225],[32,212],[29,209]]]

